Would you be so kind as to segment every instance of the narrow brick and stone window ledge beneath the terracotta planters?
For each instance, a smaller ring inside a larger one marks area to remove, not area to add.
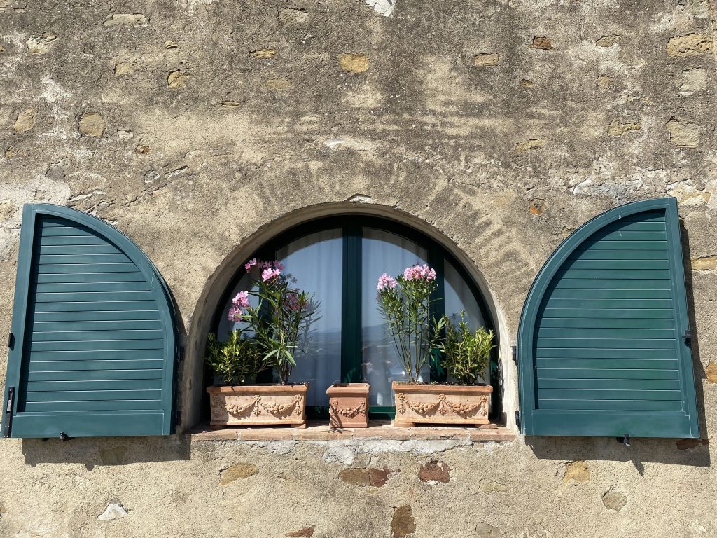
[[[191,434],[192,440],[206,441],[271,441],[271,440],[348,440],[390,439],[390,440],[461,440],[472,442],[516,440],[516,434],[505,426],[498,428],[394,428],[389,421],[371,420],[369,428],[343,428],[333,430],[326,421],[308,421],[307,428],[285,426],[258,428],[225,428],[206,430],[200,425]]]

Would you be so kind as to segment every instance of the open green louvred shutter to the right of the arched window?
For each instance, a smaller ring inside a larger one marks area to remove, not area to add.
[[[590,220],[551,255],[523,307],[521,431],[697,438],[689,329],[676,200]]]

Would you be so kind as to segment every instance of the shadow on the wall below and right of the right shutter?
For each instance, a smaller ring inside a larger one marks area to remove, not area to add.
[[[526,444],[537,458],[559,459],[564,461],[607,460],[632,461],[642,475],[643,461],[668,463],[693,467],[710,466],[710,450],[705,415],[703,379],[707,374],[700,360],[700,341],[696,331],[695,301],[692,272],[690,270],[690,238],[688,231],[680,221],[683,258],[685,260],[685,287],[687,288],[688,313],[692,329],[692,363],[695,369],[695,397],[700,424],[700,439],[636,438],[631,440],[630,448],[616,438],[577,438],[577,437],[526,437]]]

